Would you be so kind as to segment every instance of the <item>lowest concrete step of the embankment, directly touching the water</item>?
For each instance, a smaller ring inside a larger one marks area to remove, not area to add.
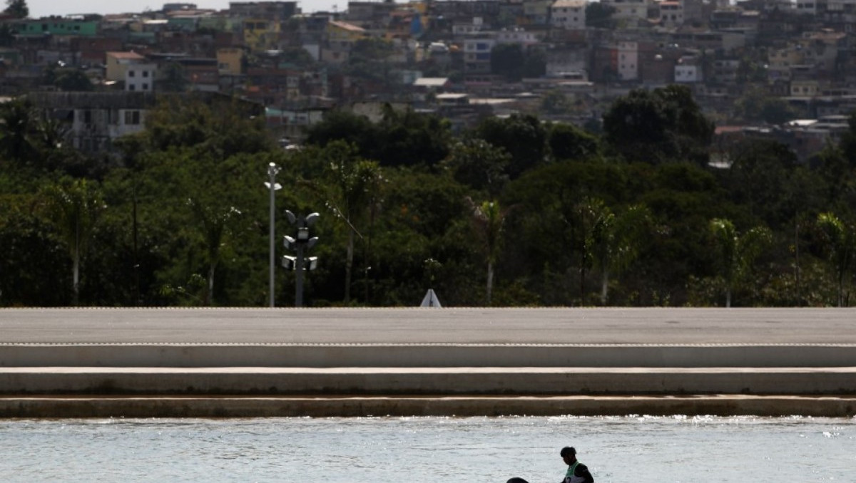
[[[476,415],[852,417],[856,398],[0,398],[2,418]]]

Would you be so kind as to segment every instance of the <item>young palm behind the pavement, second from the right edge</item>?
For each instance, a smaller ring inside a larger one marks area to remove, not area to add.
[[[731,307],[735,286],[748,274],[752,264],[772,240],[767,227],[754,227],[740,236],[734,223],[722,218],[710,221],[710,233],[716,239],[722,278],[725,280],[725,306]]]

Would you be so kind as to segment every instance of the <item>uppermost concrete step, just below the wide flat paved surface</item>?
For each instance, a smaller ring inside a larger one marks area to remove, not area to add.
[[[856,345],[0,345],[0,367],[851,367]]]

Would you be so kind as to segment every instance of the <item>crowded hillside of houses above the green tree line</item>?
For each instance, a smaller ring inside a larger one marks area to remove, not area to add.
[[[615,98],[680,84],[718,142],[752,133],[801,160],[856,108],[853,0],[348,2],[312,14],[298,2],[166,3],[41,19],[8,4],[0,95],[29,94],[87,153],[139,132],[170,91],[257,103],[290,144],[329,109],[372,118],[383,103],[455,129],[532,114],[596,130]]]

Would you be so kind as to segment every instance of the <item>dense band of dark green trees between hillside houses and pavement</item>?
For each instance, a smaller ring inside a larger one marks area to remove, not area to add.
[[[678,86],[621,97],[602,135],[335,111],[282,150],[241,103],[174,98],[92,159],[25,101],[0,124],[2,306],[265,306],[270,163],[277,256],[283,209],[321,215],[309,306],[852,304],[856,115],[810,162],[749,138],[716,163]]]

